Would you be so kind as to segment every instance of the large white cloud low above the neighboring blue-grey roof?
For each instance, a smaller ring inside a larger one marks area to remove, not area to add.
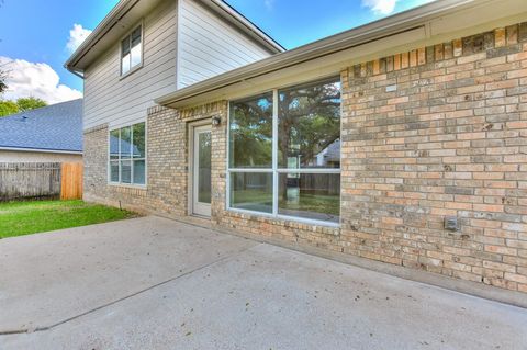
[[[58,74],[47,64],[0,56],[0,67],[8,74],[3,99],[33,97],[53,104],[82,98],[82,92],[61,84]]]

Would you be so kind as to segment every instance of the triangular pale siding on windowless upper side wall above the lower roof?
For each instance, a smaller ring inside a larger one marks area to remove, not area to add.
[[[179,88],[271,55],[195,1],[180,1]]]

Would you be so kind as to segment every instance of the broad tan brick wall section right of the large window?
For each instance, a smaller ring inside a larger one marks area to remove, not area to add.
[[[343,86],[344,251],[527,292],[526,23],[350,67]]]

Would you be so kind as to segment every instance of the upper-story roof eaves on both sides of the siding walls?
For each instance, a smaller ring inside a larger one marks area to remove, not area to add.
[[[78,74],[111,45],[114,45],[128,30],[126,23],[134,23],[145,13],[152,11],[162,0],[121,0],[99,23],[94,31],[76,49],[66,61],[65,67]],[[217,15],[238,27],[249,37],[264,45],[270,53],[277,54],[285,49],[267,33],[256,26],[247,18],[223,0],[193,0],[214,11]]]

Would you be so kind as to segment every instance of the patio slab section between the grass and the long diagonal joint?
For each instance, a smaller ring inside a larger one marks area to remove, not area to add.
[[[0,332],[51,327],[254,241],[145,217],[0,240]]]

